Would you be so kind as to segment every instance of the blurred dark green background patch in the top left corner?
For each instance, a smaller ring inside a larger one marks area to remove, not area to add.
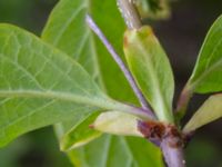
[[[0,0],[0,22],[10,22],[40,35],[58,0]]]

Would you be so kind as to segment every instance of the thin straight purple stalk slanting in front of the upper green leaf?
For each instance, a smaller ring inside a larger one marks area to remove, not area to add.
[[[112,58],[114,59],[114,61],[118,63],[118,66],[120,67],[120,69],[122,70],[122,72],[124,73],[127,80],[129,81],[131,88],[133,89],[135,96],[138,97],[142,108],[152,117],[155,118],[155,116],[153,115],[153,112],[151,111],[149,104],[147,102],[143,94],[141,92],[141,90],[138,88],[134,78],[132,77],[130,70],[128,69],[128,67],[124,65],[124,62],[122,61],[122,59],[120,58],[120,56],[115,52],[114,48],[112,47],[112,45],[108,41],[108,39],[105,38],[105,36],[102,33],[102,31],[100,30],[100,28],[97,26],[97,23],[92,20],[92,18],[87,14],[87,23],[88,26],[91,28],[91,30],[100,38],[100,40],[103,42],[103,45],[105,46],[105,48],[108,49],[108,51],[110,52],[110,55],[112,56]]]

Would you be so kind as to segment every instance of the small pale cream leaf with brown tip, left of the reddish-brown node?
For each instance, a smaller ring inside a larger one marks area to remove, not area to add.
[[[138,130],[139,119],[133,115],[120,111],[107,111],[94,120],[92,127],[102,132],[142,137],[142,134]]]

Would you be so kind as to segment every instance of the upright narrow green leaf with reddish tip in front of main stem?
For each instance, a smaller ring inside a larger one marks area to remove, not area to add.
[[[130,70],[162,121],[173,122],[174,81],[170,62],[150,27],[128,30],[124,52]]]

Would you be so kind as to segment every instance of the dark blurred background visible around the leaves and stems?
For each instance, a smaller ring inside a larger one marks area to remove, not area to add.
[[[0,22],[10,22],[40,35],[57,0],[0,0]],[[178,0],[169,20],[153,23],[173,66],[175,99],[194,67],[205,33],[222,13],[222,0]],[[195,95],[188,120],[208,96]],[[186,148],[189,167],[222,167],[222,121],[196,131]],[[59,151],[52,128],[29,132],[0,149],[0,167],[70,167]]]

